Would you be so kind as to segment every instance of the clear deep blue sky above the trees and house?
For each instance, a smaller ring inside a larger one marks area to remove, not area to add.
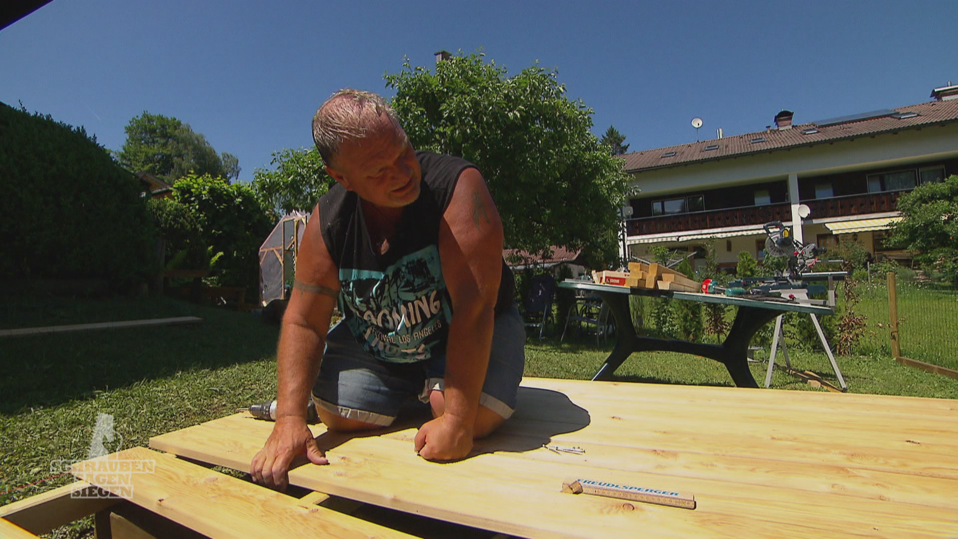
[[[482,48],[556,68],[630,151],[928,101],[958,82],[958,2],[54,0],[0,32],[0,101],[118,150],[129,119],[175,116],[239,157],[312,144],[342,87],[389,96],[403,57]],[[951,51],[950,53],[948,51]]]

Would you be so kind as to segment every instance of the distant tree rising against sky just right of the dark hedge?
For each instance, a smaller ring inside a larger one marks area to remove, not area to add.
[[[239,177],[239,159],[218,154],[189,124],[144,111],[124,128],[126,141],[117,160],[132,173],[148,172],[169,183],[194,173],[227,180]]]

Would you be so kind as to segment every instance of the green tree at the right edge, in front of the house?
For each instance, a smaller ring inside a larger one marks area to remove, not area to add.
[[[915,261],[958,285],[958,176],[926,183],[898,200],[901,222],[891,246],[915,253]]]

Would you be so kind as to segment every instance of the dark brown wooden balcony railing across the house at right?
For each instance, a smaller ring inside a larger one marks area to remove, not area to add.
[[[812,219],[854,217],[856,215],[895,211],[901,193],[904,193],[904,191],[803,200],[802,203],[807,204],[811,209]],[[787,202],[629,219],[627,221],[627,233],[629,236],[645,236],[647,234],[708,230],[723,226],[764,224],[772,221],[791,221],[791,208]]]

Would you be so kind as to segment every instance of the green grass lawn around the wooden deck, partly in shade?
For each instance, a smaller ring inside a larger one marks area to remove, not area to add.
[[[114,416],[119,447],[146,445],[155,434],[214,419],[274,396],[278,327],[255,316],[171,298],[8,301],[0,328],[201,316],[196,325],[114,329],[0,339],[0,504],[64,484],[49,479],[54,459],[86,457],[98,412]],[[526,374],[588,379],[610,343],[528,340]],[[763,359],[761,353],[758,358]],[[822,353],[792,353],[799,369],[834,381]],[[839,357],[850,391],[958,398],[958,381],[901,366],[887,354]],[[767,363],[753,363],[760,383]],[[619,380],[731,386],[724,367],[672,353],[635,354]],[[812,389],[776,369],[772,387]],[[34,486],[26,486],[35,483]],[[56,537],[89,536],[81,522]]]

